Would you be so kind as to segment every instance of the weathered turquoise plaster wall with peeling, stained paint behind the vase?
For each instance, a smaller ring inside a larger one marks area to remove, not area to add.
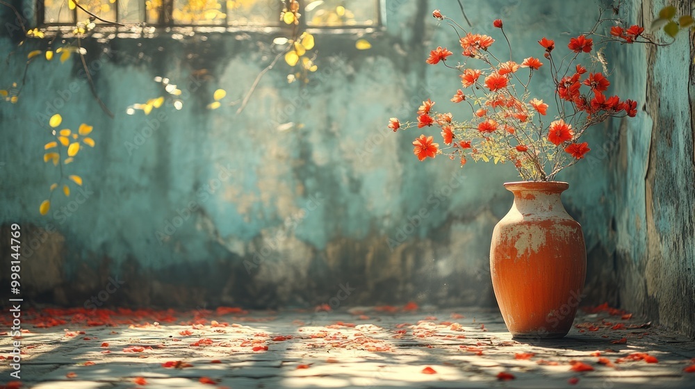
[[[288,67],[277,65],[240,114],[230,103],[270,62],[276,35],[84,40],[97,93],[113,119],[92,98],[78,56],[62,64],[36,60],[17,104],[0,104],[0,224],[21,224],[29,239],[25,292],[37,301],[81,305],[116,276],[124,284],[100,305],[306,306],[327,303],[345,284],[354,288],[346,305],[494,304],[489,242],[511,206],[502,183],[517,179],[513,167],[459,169],[445,158],[419,163],[411,151],[419,133],[386,129],[389,117],[414,118],[428,97],[439,110],[459,109],[448,101],[458,78],[425,64],[430,49],[457,47],[448,26],[432,18],[434,8],[460,15],[455,1],[387,0],[383,29],[316,33],[319,69],[311,82],[288,84]],[[543,36],[559,42],[589,28],[596,9],[584,1],[466,1],[473,29],[493,35],[502,51],[491,21],[505,20],[518,62],[541,57],[536,41]],[[5,8],[0,12],[3,24],[11,19]],[[355,49],[358,38],[373,48]],[[656,54],[621,48],[616,90],[642,104],[650,85],[656,98],[637,119],[593,129],[591,158],[559,177],[571,184],[566,208],[587,238],[585,303],[609,299],[659,316],[660,301],[670,297],[648,296],[671,285],[650,289],[649,280],[680,274],[680,290],[692,290],[692,127],[688,86],[678,83],[688,79],[690,57],[689,42],[680,38]],[[17,35],[0,35],[0,52],[16,44]],[[19,58],[46,47],[47,40],[28,40],[17,49],[10,65],[3,63],[0,88],[22,77]],[[681,70],[668,65],[673,53],[682,57]],[[150,115],[126,115],[131,104],[165,94],[156,76],[177,83],[183,108],[167,101]],[[550,99],[547,67],[538,76],[534,92]],[[71,85],[74,92],[65,92]],[[208,110],[218,88],[227,97]],[[662,97],[658,90],[676,92]],[[40,216],[57,178],[41,159],[52,140],[51,106],[64,126],[93,125],[97,145],[69,165],[84,179],[85,201],[75,201],[76,192],[69,199],[56,194],[49,215]],[[671,129],[668,140],[655,138],[653,128]],[[669,259],[660,262],[660,254]],[[644,273],[649,263],[657,266],[652,275]],[[638,287],[644,297],[632,296]],[[675,325],[678,315],[660,317]]]

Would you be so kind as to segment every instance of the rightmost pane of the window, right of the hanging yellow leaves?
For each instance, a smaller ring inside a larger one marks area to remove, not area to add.
[[[310,0],[304,7],[307,26],[373,26],[377,0]]]

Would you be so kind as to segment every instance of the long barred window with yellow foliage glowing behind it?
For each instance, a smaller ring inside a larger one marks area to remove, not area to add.
[[[72,0],[39,0],[45,26],[74,26],[90,18]],[[283,0],[77,0],[90,13],[122,24],[149,26],[281,26]],[[349,3],[349,6],[347,5]],[[307,28],[379,25],[379,0],[302,0]],[[95,20],[96,24],[100,24]],[[103,23],[101,23],[103,24]]]

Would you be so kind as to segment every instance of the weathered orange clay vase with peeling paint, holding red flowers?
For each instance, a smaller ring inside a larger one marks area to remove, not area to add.
[[[582,226],[562,206],[568,183],[505,183],[514,193],[495,226],[490,270],[495,296],[514,338],[562,338],[582,299],[587,249]]]

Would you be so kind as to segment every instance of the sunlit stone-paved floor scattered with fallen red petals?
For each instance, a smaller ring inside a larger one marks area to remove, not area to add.
[[[546,341],[512,339],[496,311],[415,304],[44,309],[22,320],[22,386],[2,333],[0,388],[695,388],[695,342],[607,306]]]

